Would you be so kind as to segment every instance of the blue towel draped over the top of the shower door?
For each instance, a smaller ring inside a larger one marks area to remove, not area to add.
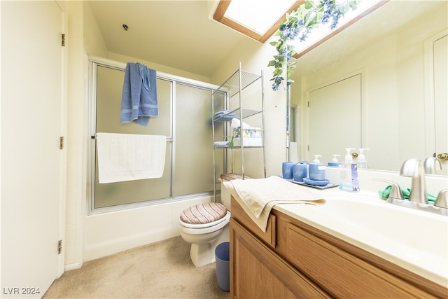
[[[148,125],[151,116],[158,116],[157,73],[140,63],[126,64],[121,98],[121,123],[134,121]]]

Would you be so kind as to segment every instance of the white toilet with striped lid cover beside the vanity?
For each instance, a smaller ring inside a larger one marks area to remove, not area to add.
[[[230,240],[230,193],[221,183],[221,202],[207,202],[185,209],[179,217],[181,237],[191,244],[195,267],[215,261],[215,249]],[[224,193],[224,194],[223,194]]]

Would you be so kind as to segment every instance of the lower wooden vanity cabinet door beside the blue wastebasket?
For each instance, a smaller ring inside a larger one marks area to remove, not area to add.
[[[230,298],[327,298],[285,260],[230,220]]]

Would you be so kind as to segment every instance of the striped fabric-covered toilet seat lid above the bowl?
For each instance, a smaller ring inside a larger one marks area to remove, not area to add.
[[[224,204],[207,202],[183,210],[181,213],[181,221],[189,224],[205,224],[218,221],[224,218],[226,214],[227,209]]]

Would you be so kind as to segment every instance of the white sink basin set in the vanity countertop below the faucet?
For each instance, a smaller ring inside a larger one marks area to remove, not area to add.
[[[317,207],[328,216],[397,246],[447,259],[447,217],[386,202],[327,200]],[[406,254],[406,252],[403,252]],[[448,263],[446,263],[448,267]]]

